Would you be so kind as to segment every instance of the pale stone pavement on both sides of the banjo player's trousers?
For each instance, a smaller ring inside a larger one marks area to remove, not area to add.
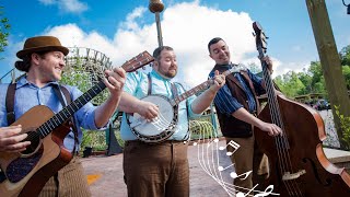
[[[214,144],[214,143],[213,143]],[[219,141],[218,146],[225,146],[225,141]],[[207,151],[209,150],[209,151]],[[199,152],[199,158],[198,158]],[[212,159],[212,152],[214,153],[214,162],[209,162]],[[218,152],[218,157],[217,157]],[[205,153],[205,154],[202,154]],[[205,157],[205,158],[203,158]],[[210,159],[208,159],[209,157]],[[127,188],[124,183],[122,176],[122,154],[105,157],[95,155],[90,158],[83,158],[82,164],[85,170],[85,174],[90,179],[90,188],[93,197],[126,197]],[[228,167],[222,171],[221,176],[217,167],[219,165],[225,167],[230,166],[230,158],[224,151],[219,151],[218,147],[209,146],[208,143],[199,146],[189,146],[188,160],[190,169],[190,196],[191,197],[226,197],[229,194],[208,175],[205,170],[211,171],[212,174],[217,173],[218,178],[232,183],[230,173],[233,172],[233,167]],[[203,162],[205,161],[205,162]],[[218,162],[218,163],[217,163]]]

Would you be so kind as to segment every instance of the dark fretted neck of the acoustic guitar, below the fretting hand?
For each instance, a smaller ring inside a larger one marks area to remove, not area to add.
[[[81,107],[83,107],[88,102],[90,102],[93,97],[95,97],[98,93],[101,93],[106,85],[103,81],[100,81],[84,94],[79,96],[75,101],[70,103],[68,106],[62,108],[59,113],[52,116],[49,120],[43,124],[38,131],[42,138],[45,138],[48,134],[50,134],[55,128],[63,124],[67,119],[69,119],[75,112],[78,112]]]

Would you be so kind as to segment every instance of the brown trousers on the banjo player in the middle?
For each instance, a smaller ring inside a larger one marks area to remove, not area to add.
[[[127,141],[122,167],[128,197],[188,197],[187,149],[183,141]]]

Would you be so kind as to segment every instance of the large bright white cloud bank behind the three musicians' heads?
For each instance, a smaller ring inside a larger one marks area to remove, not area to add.
[[[152,13],[145,12],[145,8],[135,9],[118,25],[113,38],[100,32],[84,32],[75,24],[55,26],[43,32],[43,35],[55,35],[65,46],[93,48],[109,57],[114,66],[121,66],[143,50],[152,54],[159,45],[155,22],[140,22],[145,14]],[[163,44],[172,46],[177,55],[179,72],[176,80],[189,86],[207,80],[214,65],[209,57],[207,45],[211,38],[218,36],[230,46],[233,62],[256,62],[259,66],[252,24],[253,20],[245,12],[208,8],[201,5],[198,0],[167,7],[162,12],[161,26]],[[296,66],[300,66],[296,62],[282,63],[273,57],[272,60],[273,76],[298,69]]]

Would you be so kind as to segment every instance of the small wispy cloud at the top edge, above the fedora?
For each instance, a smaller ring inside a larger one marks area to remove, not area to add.
[[[38,0],[45,5],[58,5],[59,10],[68,13],[82,13],[89,9],[88,4],[79,0]]]

